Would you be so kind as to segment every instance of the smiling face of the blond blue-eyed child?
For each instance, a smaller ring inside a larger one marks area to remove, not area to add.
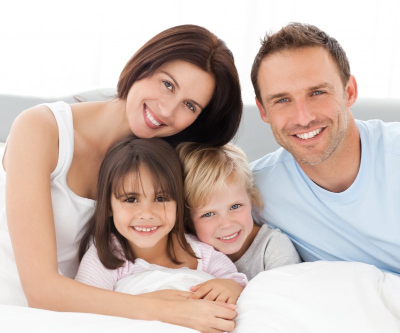
[[[238,252],[253,228],[251,201],[240,181],[211,193],[190,216],[198,239],[225,254]]]

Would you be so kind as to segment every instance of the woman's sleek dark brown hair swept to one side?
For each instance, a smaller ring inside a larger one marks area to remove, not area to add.
[[[214,146],[228,143],[240,125],[240,83],[232,53],[205,28],[177,26],[150,39],[122,70],[117,97],[126,100],[135,81],[150,77],[161,65],[173,60],[186,61],[209,73],[215,80],[215,91],[194,123],[166,140],[174,146],[184,141]]]

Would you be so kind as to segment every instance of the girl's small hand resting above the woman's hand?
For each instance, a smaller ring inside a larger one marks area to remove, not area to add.
[[[190,287],[193,294],[190,299],[203,298],[217,300],[229,304],[236,304],[243,287],[229,278],[214,278]]]

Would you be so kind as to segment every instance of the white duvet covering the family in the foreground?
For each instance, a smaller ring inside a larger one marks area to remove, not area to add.
[[[161,288],[173,285],[187,289],[191,283],[207,278],[186,276],[179,285],[179,279],[171,274],[153,277],[123,279],[117,288],[132,292],[141,290],[139,284],[146,288],[158,284]],[[356,262],[316,261],[278,267],[249,282],[237,301],[237,313],[234,333],[399,333],[400,277]],[[11,305],[0,305],[0,330],[194,332],[159,321]]]

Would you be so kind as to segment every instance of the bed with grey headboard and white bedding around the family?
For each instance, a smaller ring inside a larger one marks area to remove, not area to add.
[[[93,101],[112,94],[113,90],[108,89],[77,96]],[[12,120],[19,112],[55,100],[74,101],[72,96],[0,95],[0,142],[5,141]],[[352,111],[358,119],[399,121],[400,100],[359,99]],[[254,105],[245,106],[240,133],[235,142],[250,161],[277,147]],[[26,307],[18,282],[10,278],[15,274],[9,259],[12,254],[1,246],[3,241],[0,238],[1,331],[195,332],[159,321]],[[259,273],[249,282],[237,301],[235,324],[233,333],[398,333],[400,277],[358,262],[316,261],[278,267]]]

